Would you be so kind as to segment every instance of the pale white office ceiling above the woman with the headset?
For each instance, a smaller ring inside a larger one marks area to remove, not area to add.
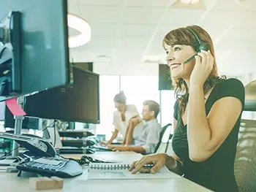
[[[69,0],[68,11],[87,20],[92,34],[88,44],[70,50],[70,57],[93,61],[103,74],[152,74],[149,70],[165,62],[165,34],[197,24],[214,40],[219,74],[256,71],[255,0],[203,0],[188,7],[175,1]]]

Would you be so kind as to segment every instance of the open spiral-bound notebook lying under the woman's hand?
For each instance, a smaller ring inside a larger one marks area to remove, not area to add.
[[[136,173],[129,172],[130,164],[89,164],[88,180],[132,180],[132,179],[171,179],[179,177],[170,172],[166,166],[156,173]],[[149,165],[148,167],[151,167]]]

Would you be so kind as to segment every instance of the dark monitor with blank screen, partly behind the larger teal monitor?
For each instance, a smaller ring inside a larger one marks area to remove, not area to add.
[[[99,123],[99,74],[73,66],[73,84],[26,96],[27,116]]]

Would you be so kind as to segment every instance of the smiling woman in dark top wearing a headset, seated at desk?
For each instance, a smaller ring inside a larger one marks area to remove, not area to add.
[[[238,191],[234,161],[244,85],[218,77],[213,42],[199,26],[170,31],[162,45],[176,95],[173,150],[143,156],[129,171],[154,173],[167,166],[213,191]]]

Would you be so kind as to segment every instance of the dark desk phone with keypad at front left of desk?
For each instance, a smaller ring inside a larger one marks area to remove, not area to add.
[[[46,139],[0,132],[0,137],[13,139],[29,150],[23,153],[16,168],[23,172],[33,172],[46,177],[75,177],[83,173],[78,162],[56,155],[53,145]]]

